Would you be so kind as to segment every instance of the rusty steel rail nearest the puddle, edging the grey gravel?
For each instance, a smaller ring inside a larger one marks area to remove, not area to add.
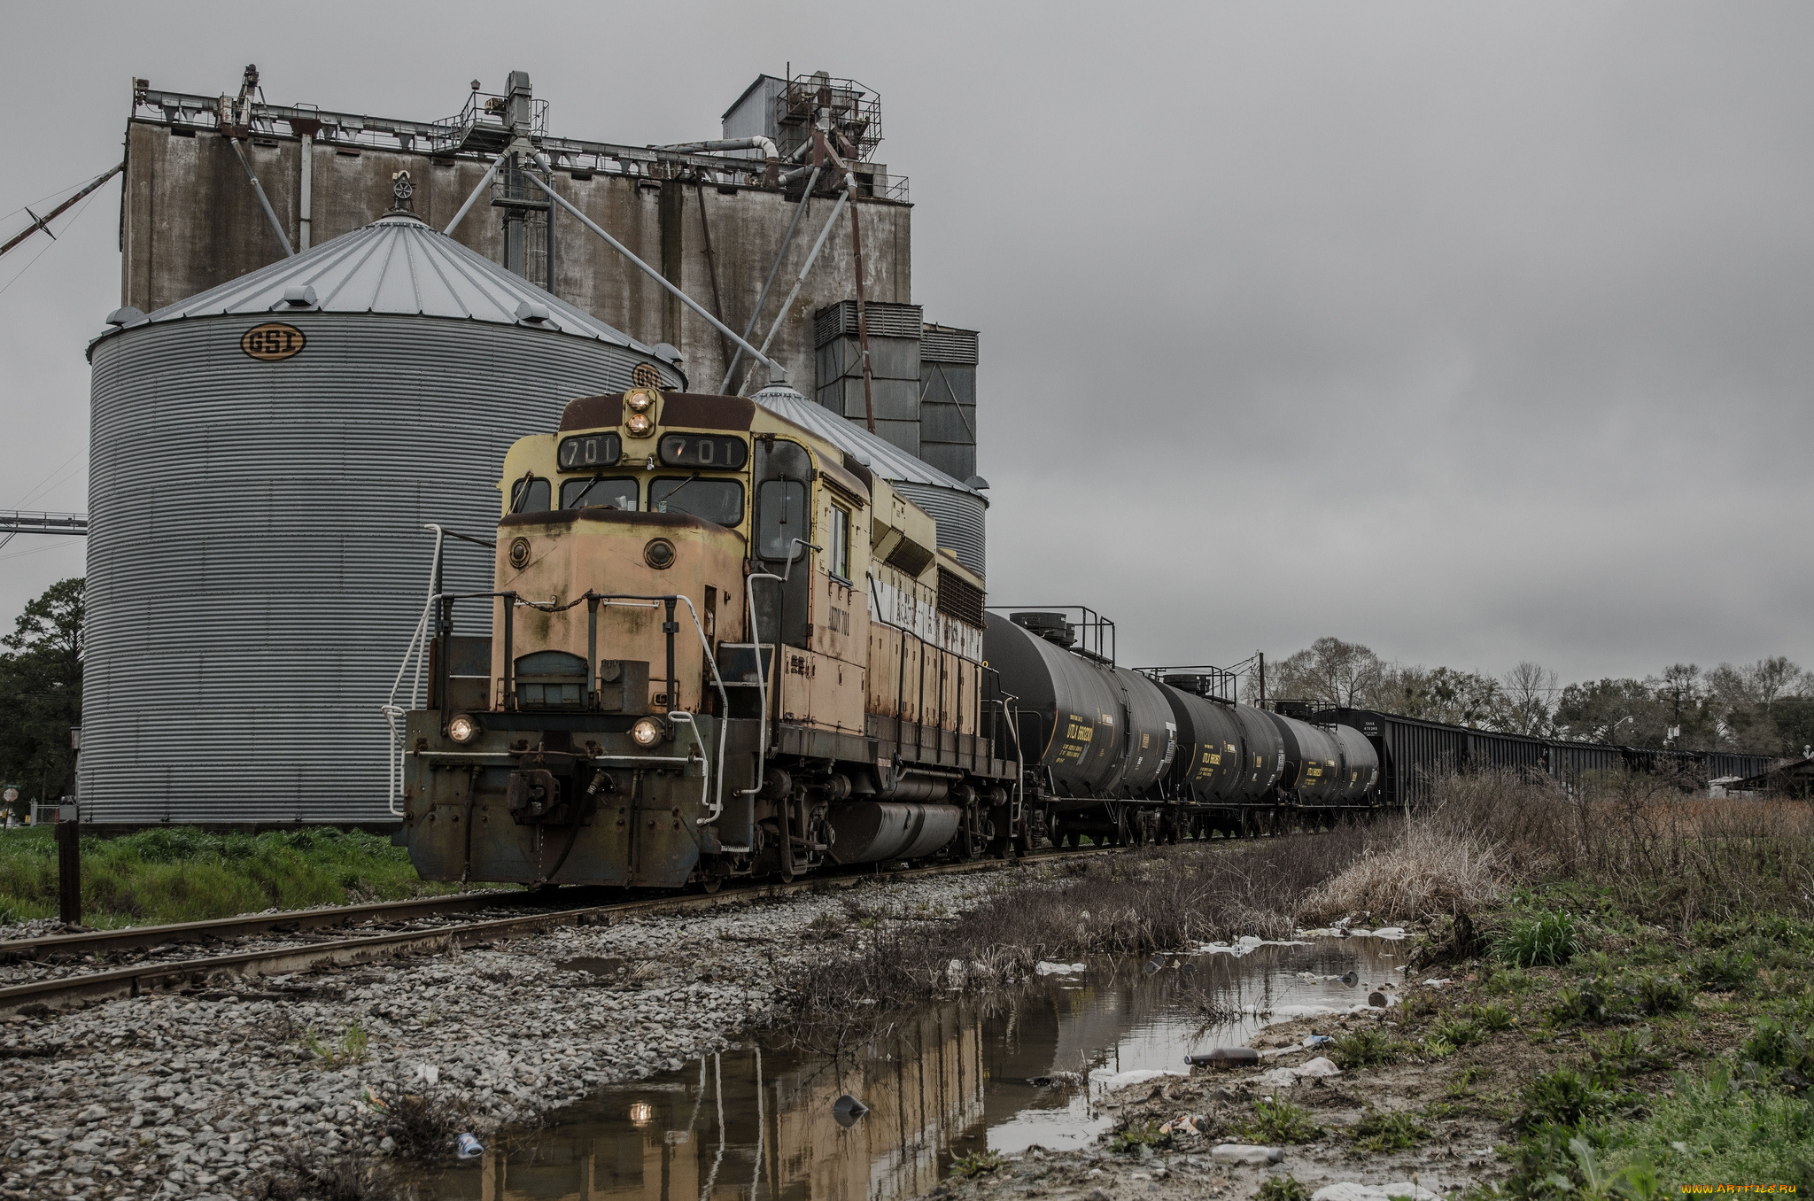
[[[470,949],[504,938],[524,938],[541,934],[562,925],[611,925],[629,918],[642,918],[664,913],[691,913],[698,909],[717,909],[718,905],[742,905],[753,900],[793,896],[824,887],[854,887],[863,880],[885,876],[889,880],[912,880],[918,876],[951,876],[972,871],[998,871],[1016,864],[1034,864],[1056,858],[1079,858],[1094,854],[1112,854],[1125,847],[1092,847],[1088,851],[1041,851],[1012,860],[969,860],[963,864],[934,864],[929,867],[909,867],[902,871],[858,871],[834,876],[802,876],[785,884],[756,884],[720,893],[693,896],[657,896],[649,900],[615,902],[610,905],[582,905],[577,909],[557,909],[551,913],[533,913],[513,918],[492,918],[486,922],[468,922],[463,925],[443,925],[426,931],[399,931],[392,934],[368,934],[363,938],[343,938],[336,942],[299,943],[292,947],[267,947],[261,951],[234,951],[200,960],[178,960],[160,963],[134,963],[102,972],[83,972],[60,980],[33,980],[22,985],[0,989],[0,1012],[18,1012],[33,1007],[34,1012],[49,1012],[53,1005],[71,1001],[107,1001],[141,996],[158,989],[181,987],[192,983],[216,983],[230,991],[216,978],[230,976],[285,976],[325,965],[372,963],[395,954],[439,954]],[[522,896],[530,896],[524,893]],[[319,914],[325,911],[307,911]],[[281,923],[294,914],[267,914],[265,920]],[[190,922],[185,925],[209,925]],[[147,931],[156,927],[147,927]],[[163,927],[180,929],[180,927]],[[270,927],[267,927],[270,929]],[[83,938],[76,934],[74,938]],[[33,940],[44,942],[44,940]],[[44,1007],[42,1011],[36,1007]]]

